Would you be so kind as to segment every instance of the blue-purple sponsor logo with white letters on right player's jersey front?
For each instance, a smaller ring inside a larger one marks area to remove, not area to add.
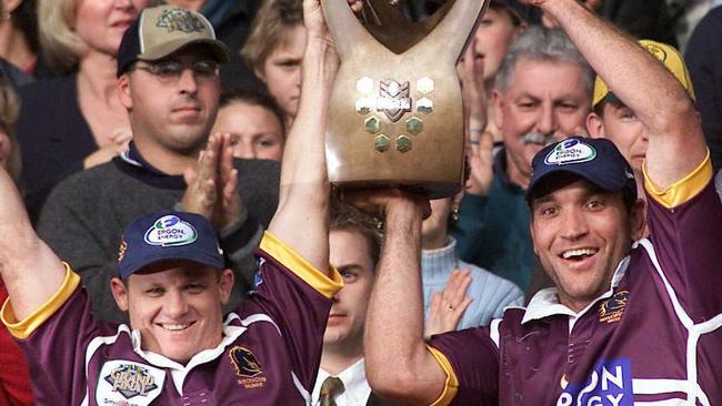
[[[633,406],[632,363],[626,358],[599,362],[583,384],[562,378],[562,389],[556,406]]]

